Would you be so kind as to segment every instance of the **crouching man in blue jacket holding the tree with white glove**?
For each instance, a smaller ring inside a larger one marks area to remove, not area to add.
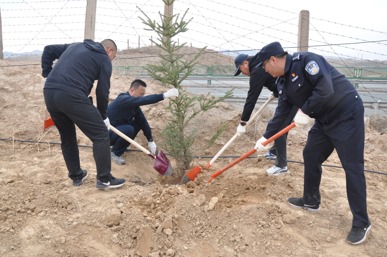
[[[108,118],[111,125],[133,140],[142,130],[148,139],[149,151],[156,154],[156,143],[152,138],[151,127],[149,127],[140,106],[151,105],[163,101],[165,98],[179,96],[179,91],[176,88],[171,88],[166,93],[151,94],[149,96],[145,96],[145,91],[146,83],[140,79],[134,80],[130,84],[129,91],[120,93],[108,105]],[[109,137],[110,146],[113,146],[110,152],[111,159],[117,164],[126,164],[122,154],[130,143],[111,130],[109,130]]]

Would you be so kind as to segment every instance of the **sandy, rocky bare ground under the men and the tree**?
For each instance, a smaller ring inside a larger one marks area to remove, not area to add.
[[[0,61],[7,64],[15,63]],[[43,132],[49,114],[38,73],[39,65],[0,67],[0,137],[60,142],[55,127]],[[113,75],[111,100],[127,91],[132,79]],[[167,90],[152,81],[148,85],[147,94]],[[158,145],[167,105],[164,100],[142,108]],[[241,110],[221,103],[195,119],[190,127],[200,133],[195,149],[216,126],[229,121],[223,137],[204,153],[214,156],[235,134],[240,115]],[[252,149],[271,115],[272,111],[264,111],[224,155],[240,156]],[[303,161],[311,125],[289,132],[289,160]],[[79,144],[91,145],[82,132],[77,133]],[[143,135],[136,141],[146,147]],[[73,187],[58,145],[0,140],[1,256],[387,256],[386,175],[366,172],[372,229],[364,243],[349,245],[352,214],[341,168],[323,167],[321,210],[310,212],[287,203],[288,197],[302,196],[302,164],[289,163],[289,173],[268,176],[265,170],[273,161],[246,159],[214,183],[204,183],[235,159],[219,158],[198,177],[200,185],[186,186],[175,173],[160,176],[144,153],[128,152],[123,155],[127,165],[112,163],[112,174],[127,183],[99,190],[92,149],[79,151],[89,177],[84,185]],[[365,168],[386,172],[386,159],[387,135],[366,128]],[[205,166],[209,160],[196,159],[194,165]],[[341,166],[335,152],[326,164]]]

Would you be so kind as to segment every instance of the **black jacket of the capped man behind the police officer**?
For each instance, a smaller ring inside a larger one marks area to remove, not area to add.
[[[263,67],[256,67],[260,63],[258,53],[251,56],[248,60],[248,69],[250,70],[250,88],[248,89],[245,106],[241,120],[249,120],[251,113],[254,110],[255,104],[262,92],[263,87],[267,87],[273,92],[274,96],[278,98],[278,90],[276,85],[276,78],[265,72]]]

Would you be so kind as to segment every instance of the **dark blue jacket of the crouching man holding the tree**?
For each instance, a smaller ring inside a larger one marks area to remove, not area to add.
[[[151,94],[149,96],[134,97],[126,93],[120,93],[113,102],[108,105],[108,118],[110,124],[114,127],[130,125],[134,118],[139,123],[141,130],[148,139],[152,139],[151,127],[145,118],[144,113],[139,106],[151,105],[163,101],[163,94]]]

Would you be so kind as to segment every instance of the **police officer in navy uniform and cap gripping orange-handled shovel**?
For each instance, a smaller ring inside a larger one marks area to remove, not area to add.
[[[262,142],[279,131],[293,106],[300,108],[295,116],[296,127],[303,127],[314,118],[303,151],[303,197],[292,197],[288,202],[309,211],[320,210],[321,164],[336,149],[346,173],[347,197],[353,214],[347,242],[363,242],[371,228],[364,176],[363,101],[351,82],[321,55],[310,52],[290,55],[280,43],[273,42],[260,50],[259,58],[262,62],[258,66],[278,77],[279,98],[274,117],[255,149],[268,148]]]

